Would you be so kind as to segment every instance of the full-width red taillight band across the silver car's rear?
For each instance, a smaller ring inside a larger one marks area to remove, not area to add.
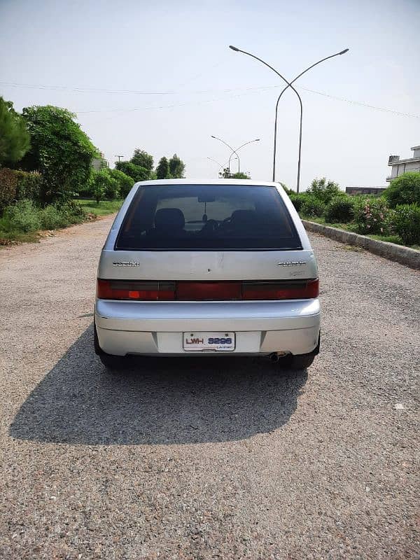
[[[316,280],[280,281],[97,281],[100,300],[138,301],[235,301],[309,300],[318,297]]]

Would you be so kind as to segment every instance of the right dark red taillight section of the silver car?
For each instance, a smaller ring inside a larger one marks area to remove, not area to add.
[[[243,300],[309,300],[318,293],[318,279],[242,283]]]

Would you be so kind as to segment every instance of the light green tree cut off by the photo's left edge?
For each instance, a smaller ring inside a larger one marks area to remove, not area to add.
[[[29,150],[25,120],[13,109],[13,103],[0,97],[0,165],[18,162]]]

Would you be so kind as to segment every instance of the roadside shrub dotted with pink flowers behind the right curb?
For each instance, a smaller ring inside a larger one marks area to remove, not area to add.
[[[353,221],[358,233],[362,235],[390,233],[389,209],[384,198],[355,197],[353,212]]]

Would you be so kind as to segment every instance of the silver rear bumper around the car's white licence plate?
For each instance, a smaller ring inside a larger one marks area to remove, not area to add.
[[[232,331],[235,350],[218,356],[310,353],[318,343],[318,300],[281,302],[129,302],[97,300],[95,324],[109,354],[209,356],[183,350],[183,332]]]

